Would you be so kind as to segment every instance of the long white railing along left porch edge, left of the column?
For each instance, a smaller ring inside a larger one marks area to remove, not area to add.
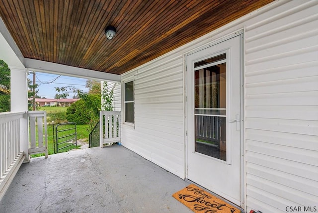
[[[26,112],[0,113],[0,200],[25,157],[20,149],[21,118],[25,115]]]

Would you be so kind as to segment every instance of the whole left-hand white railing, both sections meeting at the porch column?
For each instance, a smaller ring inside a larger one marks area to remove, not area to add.
[[[24,134],[27,133],[27,122],[30,140]],[[0,200],[29,154],[45,153],[47,158],[46,129],[45,111],[0,113]],[[29,148],[24,150],[23,146],[28,141]]]

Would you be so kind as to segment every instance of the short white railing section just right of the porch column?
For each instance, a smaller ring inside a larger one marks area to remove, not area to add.
[[[46,111],[28,111],[28,117],[30,131],[29,155],[45,153],[45,158],[47,158],[48,138]]]

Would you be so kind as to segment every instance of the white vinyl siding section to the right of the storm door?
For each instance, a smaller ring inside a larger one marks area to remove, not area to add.
[[[318,1],[290,1],[246,26],[247,209],[318,201]]]

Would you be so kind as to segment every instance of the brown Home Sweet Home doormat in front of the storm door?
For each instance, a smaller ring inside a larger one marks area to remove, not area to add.
[[[195,213],[240,213],[240,210],[194,184],[172,195]]]

